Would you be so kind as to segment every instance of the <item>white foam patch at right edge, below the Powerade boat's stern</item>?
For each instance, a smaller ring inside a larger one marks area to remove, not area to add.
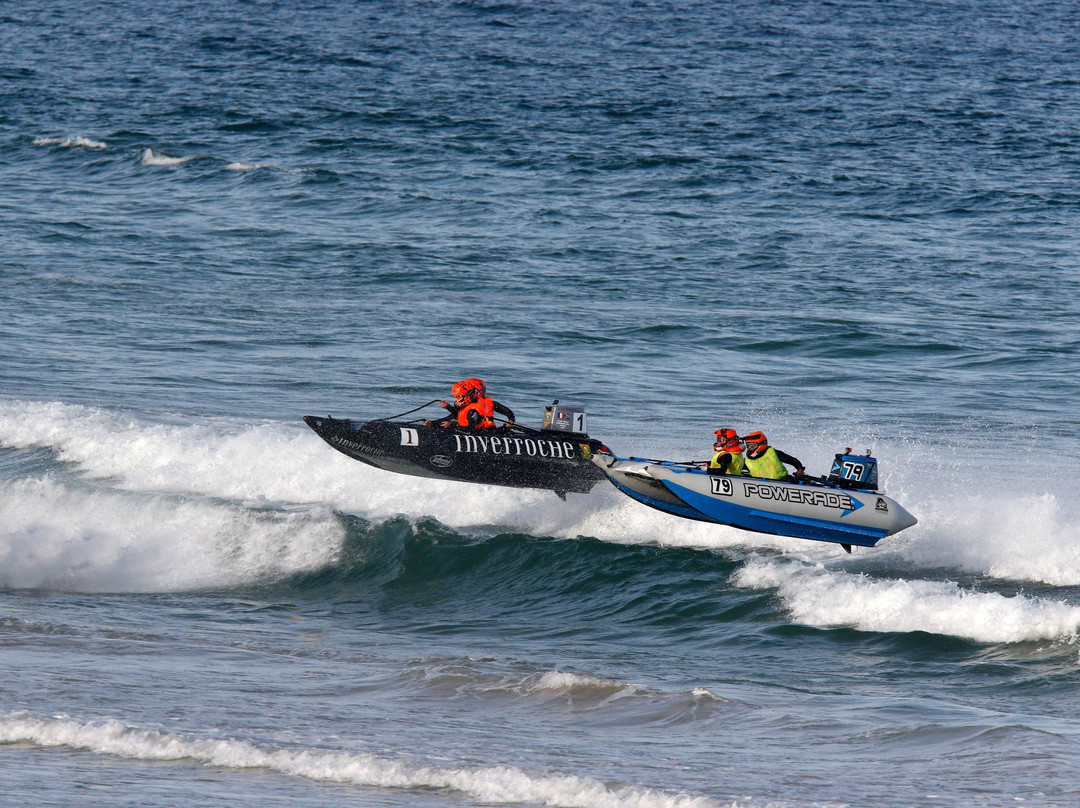
[[[779,590],[796,622],[823,629],[923,631],[980,643],[1074,642],[1080,607],[1059,601],[971,592],[943,581],[880,580],[791,561],[757,560],[735,585]]]

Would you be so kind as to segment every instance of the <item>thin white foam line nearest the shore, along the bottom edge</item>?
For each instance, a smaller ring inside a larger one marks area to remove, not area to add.
[[[633,785],[611,786],[588,777],[529,773],[513,766],[456,768],[369,754],[268,749],[238,740],[202,740],[126,727],[118,722],[81,724],[70,718],[0,714],[0,743],[86,750],[135,760],[194,760],[227,769],[269,769],[309,780],[379,789],[445,789],[484,803],[564,808],[718,808],[685,793]],[[728,804],[734,808],[734,804]]]

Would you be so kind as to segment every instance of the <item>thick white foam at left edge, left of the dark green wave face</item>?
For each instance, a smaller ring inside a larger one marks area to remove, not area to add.
[[[0,484],[0,588],[166,592],[265,582],[333,564],[328,509],[288,513],[96,490]]]

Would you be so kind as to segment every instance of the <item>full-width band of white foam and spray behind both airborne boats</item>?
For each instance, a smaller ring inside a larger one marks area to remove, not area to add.
[[[0,443],[45,446],[91,479],[129,491],[199,495],[252,504],[330,507],[380,521],[434,516],[459,529],[592,536],[619,543],[768,548],[810,561],[845,560],[835,544],[691,522],[597,486],[567,501],[550,491],[495,488],[392,474],[350,460],[302,425],[140,422],[92,407],[0,400]],[[943,482],[944,481],[944,482]],[[891,494],[920,520],[853,564],[946,567],[1053,585],[1080,584],[1080,519],[1069,495],[1041,477],[950,482],[897,469]]]

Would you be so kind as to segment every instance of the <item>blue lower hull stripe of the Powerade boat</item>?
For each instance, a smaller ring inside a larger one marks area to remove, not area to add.
[[[666,480],[662,481],[667,489],[686,502],[691,509],[703,514],[713,522],[719,522],[744,530],[791,536],[796,539],[814,539],[816,541],[834,541],[839,544],[858,544],[874,547],[886,536],[882,528],[862,527],[859,525],[838,525],[826,520],[791,516],[785,513],[770,513],[756,508],[725,502],[707,497],[704,494],[684,488]],[[631,496],[634,496],[633,494]],[[700,519],[700,516],[699,516]]]

